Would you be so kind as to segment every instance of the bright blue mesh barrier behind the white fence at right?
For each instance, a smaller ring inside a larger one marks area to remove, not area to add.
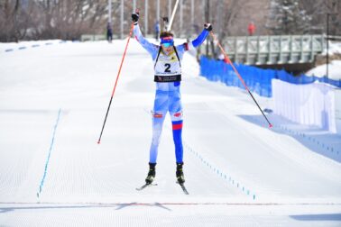
[[[263,69],[235,63],[234,66],[241,77],[243,77],[250,91],[265,97],[272,96],[272,78],[281,79],[282,81],[297,85],[305,85],[319,81],[341,87],[341,80],[333,80],[327,77],[309,77],[303,74],[295,77],[285,70]],[[244,89],[242,82],[235,75],[235,71],[231,65],[226,64],[222,60],[207,59],[202,56],[200,59],[200,75],[210,81],[220,81],[226,84],[226,86],[238,86]]]

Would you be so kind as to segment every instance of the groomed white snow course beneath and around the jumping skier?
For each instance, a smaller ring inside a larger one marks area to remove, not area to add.
[[[247,93],[198,77],[189,54],[189,195],[175,184],[169,118],[158,186],[136,191],[152,137],[148,53],[131,40],[98,145],[125,41],[37,43],[0,51],[0,226],[341,225],[340,137],[273,114],[267,128]]]

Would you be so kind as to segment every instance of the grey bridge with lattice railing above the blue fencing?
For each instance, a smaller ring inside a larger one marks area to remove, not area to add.
[[[312,63],[325,39],[320,35],[276,35],[228,37],[221,41],[229,58],[244,65],[288,65]],[[202,51],[204,52],[204,51]]]

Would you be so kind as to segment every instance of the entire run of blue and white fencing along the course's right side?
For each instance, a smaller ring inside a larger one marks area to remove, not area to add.
[[[284,70],[262,69],[234,63],[250,91],[272,97],[273,112],[292,122],[318,126],[341,134],[341,81],[327,77],[294,77]],[[227,86],[243,84],[222,60],[200,59],[200,73]]]

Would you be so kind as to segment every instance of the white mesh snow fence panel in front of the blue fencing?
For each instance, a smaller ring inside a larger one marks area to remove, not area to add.
[[[272,80],[273,113],[292,122],[341,134],[341,90],[325,83],[294,85]]]

